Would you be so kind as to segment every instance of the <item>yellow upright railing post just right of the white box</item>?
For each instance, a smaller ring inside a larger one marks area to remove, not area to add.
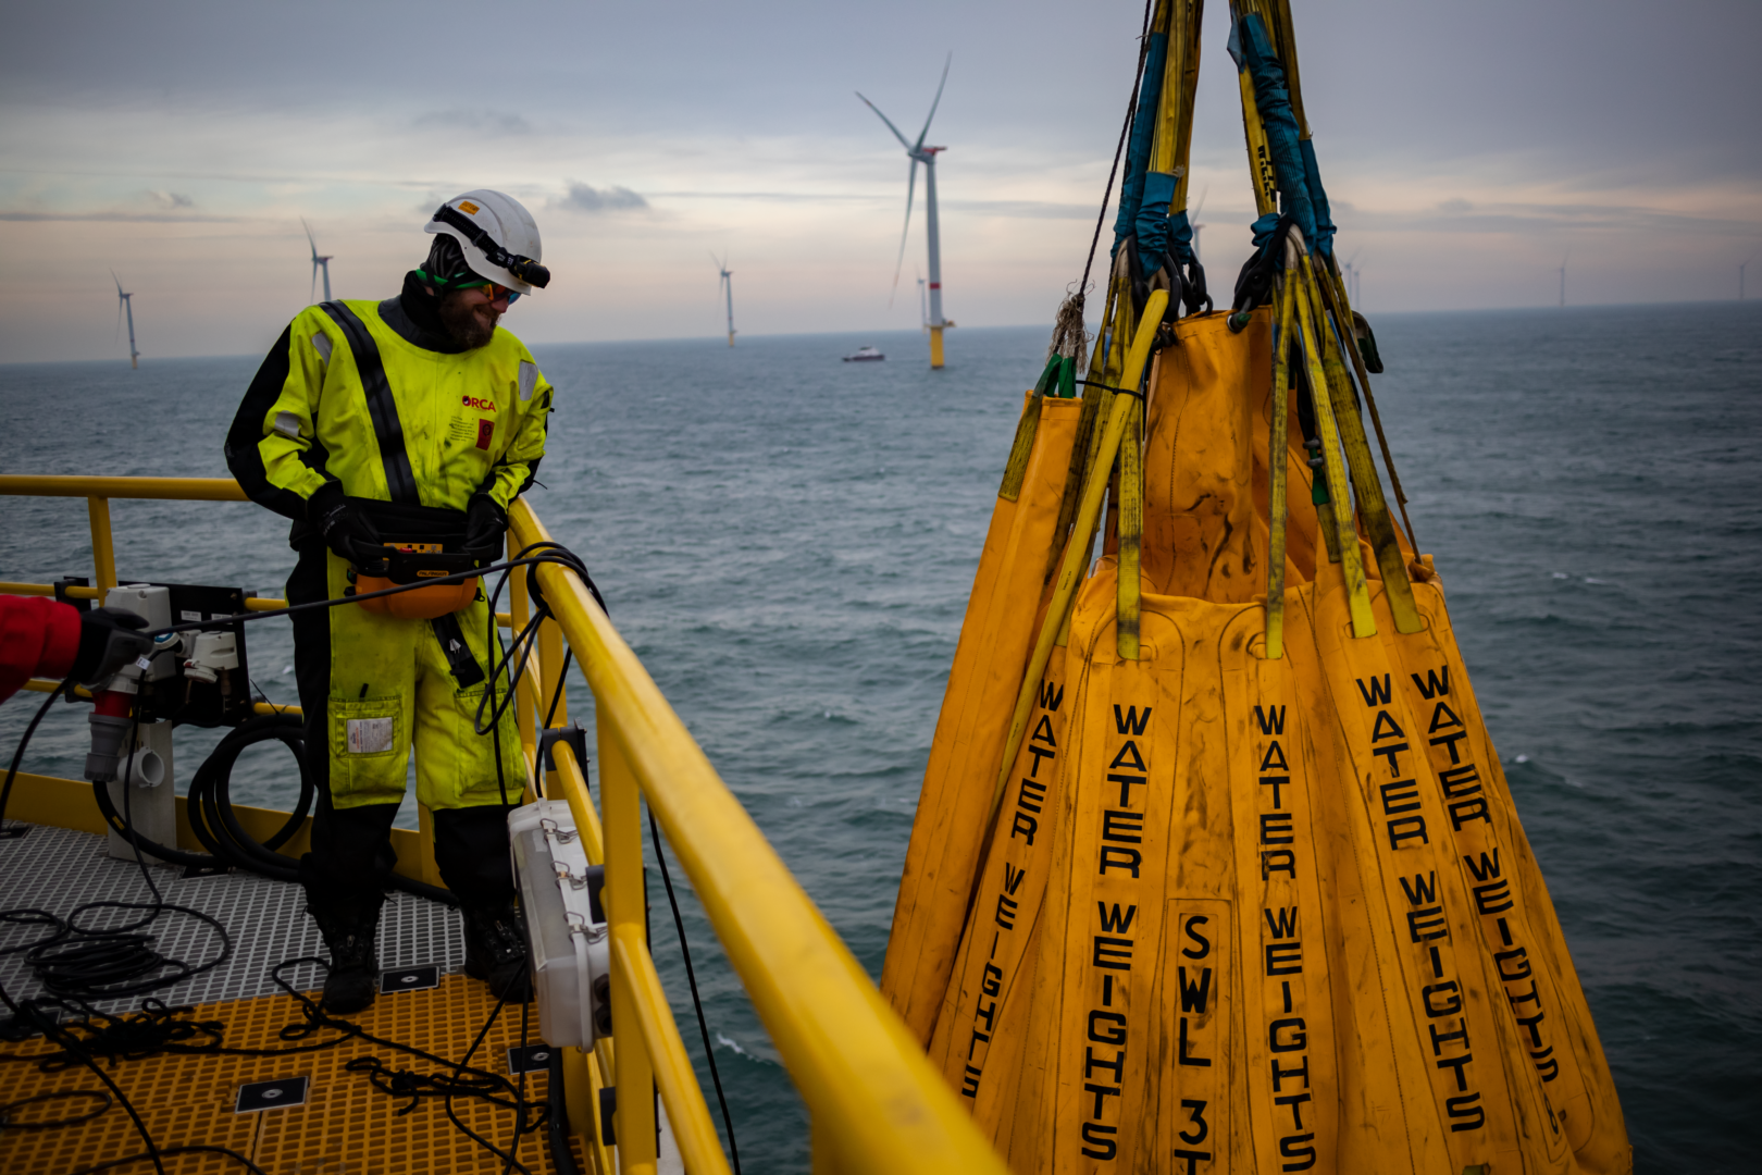
[[[599,721],[599,810],[606,837],[603,900],[611,930],[611,953],[643,950],[647,895],[643,893],[641,789],[631,775],[624,747],[606,719]],[[618,1043],[618,1175],[654,1175],[655,1101],[654,1062],[643,1041],[636,1001],[645,995],[629,979],[631,969],[611,965],[611,1039]]]

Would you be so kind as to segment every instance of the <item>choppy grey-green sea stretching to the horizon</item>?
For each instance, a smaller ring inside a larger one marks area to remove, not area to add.
[[[1762,1149],[1762,303],[1373,315],[1420,548],[1565,923],[1640,1171]],[[511,322],[513,324],[513,322]],[[879,976],[967,590],[1045,328],[546,345],[530,500],[782,860]],[[860,345],[883,363],[842,363]],[[226,476],[257,356],[0,366],[0,472]],[[280,594],[285,521],[115,502],[123,581]],[[0,504],[0,580],[90,574],[85,504]],[[284,620],[250,671],[296,701]],[[571,675],[571,717],[590,696]],[[33,696],[0,706],[11,757]],[[78,777],[83,708],[26,770]],[[215,733],[180,731],[178,775]],[[292,763],[233,794],[291,807]],[[181,784],[180,784],[181,786]],[[414,826],[414,812],[403,814]],[[807,1119],[673,863],[747,1171]],[[4,884],[4,883],[0,883]],[[659,895],[654,953],[708,1080]],[[707,1085],[708,1087],[708,1085]],[[714,1099],[712,1099],[714,1108]]]

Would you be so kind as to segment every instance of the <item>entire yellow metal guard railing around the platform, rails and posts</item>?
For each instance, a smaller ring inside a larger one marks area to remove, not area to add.
[[[83,497],[92,521],[97,587],[72,588],[74,599],[100,597],[115,587],[109,543],[111,499],[243,502],[227,477],[51,477],[0,474],[0,495]],[[532,509],[516,500],[509,511],[511,548],[550,541]],[[504,625],[529,617],[525,576]],[[641,934],[643,833],[641,798],[666,830],[673,853],[703,902],[735,972],[782,1053],[784,1064],[814,1115],[816,1166],[830,1156],[840,1171],[960,1171],[1004,1175],[1003,1161],[925,1059],[922,1046],[881,999],[849,950],[779,860],[740,802],[717,777],[691,733],[663,698],[636,654],[587,592],[585,583],[557,564],[543,564],[537,581],[555,622],[529,662],[520,689],[522,742],[536,757],[536,722],[562,676],[562,647],[594,691],[599,784],[596,810],[585,765],[567,743],[553,750],[555,770],[546,794],[567,800],[589,858],[606,865],[606,905],[613,951],[613,1041],[592,1053],[566,1052],[569,1126],[604,1168],[604,1150],[592,1131],[589,1087],[620,1089],[617,1126],[618,1170],[655,1170],[654,1101],[659,1087],[673,1136],[692,1175],[724,1175],[715,1124],[698,1087],[673,1022],[666,994]],[[0,583],[0,592],[53,594],[53,585]],[[252,599],[247,608],[273,610],[285,601]],[[536,680],[534,680],[536,678]],[[32,689],[53,689],[32,682]],[[292,706],[259,706],[292,710]],[[555,722],[566,713],[559,706]]]

